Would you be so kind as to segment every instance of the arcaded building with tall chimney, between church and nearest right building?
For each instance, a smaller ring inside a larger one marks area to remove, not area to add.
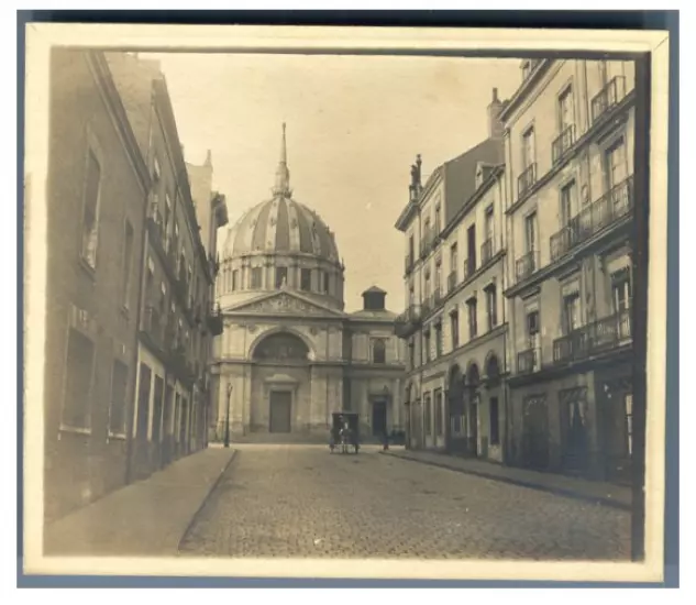
[[[410,197],[396,227],[406,235],[407,440],[504,460],[507,322],[504,141],[497,90],[488,138],[439,166]]]

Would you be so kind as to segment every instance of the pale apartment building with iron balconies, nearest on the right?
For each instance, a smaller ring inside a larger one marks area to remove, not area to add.
[[[634,64],[524,61],[506,129],[509,454],[620,479],[632,452]]]

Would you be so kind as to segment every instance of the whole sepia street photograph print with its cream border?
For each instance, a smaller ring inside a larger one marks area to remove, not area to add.
[[[26,32],[24,573],[660,581],[666,32]]]

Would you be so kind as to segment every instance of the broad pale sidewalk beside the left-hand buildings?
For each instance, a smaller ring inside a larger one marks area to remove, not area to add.
[[[232,462],[210,448],[46,527],[46,556],[169,556]]]

